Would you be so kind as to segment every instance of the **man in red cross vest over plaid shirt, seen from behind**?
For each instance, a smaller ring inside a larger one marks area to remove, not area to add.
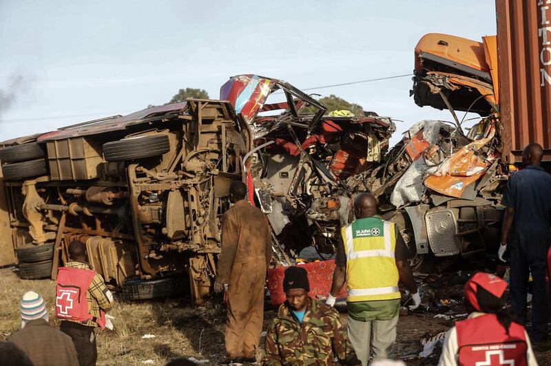
[[[112,308],[113,295],[87,263],[82,241],[71,241],[69,257],[57,275],[56,316],[61,319],[61,332],[74,342],[79,364],[94,366],[98,358],[94,328],[105,327],[105,312]]]

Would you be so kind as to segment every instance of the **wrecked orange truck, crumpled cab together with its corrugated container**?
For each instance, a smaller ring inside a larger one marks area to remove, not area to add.
[[[514,12],[523,17],[510,19]],[[526,144],[542,145],[550,170],[551,47],[539,24],[551,14],[521,1],[497,1],[497,14],[497,36],[479,42],[433,33],[415,47],[410,95],[420,107],[448,109],[453,122],[419,122],[386,154],[403,150],[408,164],[389,177],[397,182],[386,185],[391,195],[380,201],[422,270],[433,255],[495,254],[501,195],[509,174],[521,168]],[[479,116],[469,131],[466,112]]]

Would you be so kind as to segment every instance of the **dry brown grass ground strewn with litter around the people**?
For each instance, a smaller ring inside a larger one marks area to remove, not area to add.
[[[28,281],[17,278],[10,268],[0,269],[0,341],[19,329],[19,300],[23,293],[34,290],[41,294],[50,312],[50,323],[59,327],[54,317],[54,281]],[[221,305],[195,307],[185,298],[156,301],[118,301],[112,312],[114,330],[98,331],[98,365],[165,365],[176,357],[193,356],[209,360],[213,365],[224,356],[225,309]],[[264,330],[275,311],[264,313]],[[398,323],[397,356],[418,354],[419,340],[426,332],[436,334],[448,330],[453,323],[433,318],[434,314],[403,316]],[[346,314],[342,316],[346,323]],[[154,334],[154,338],[142,338]],[[258,356],[262,355],[262,343]],[[435,365],[437,356],[415,360],[410,365]],[[537,352],[540,365],[551,364],[551,352]]]

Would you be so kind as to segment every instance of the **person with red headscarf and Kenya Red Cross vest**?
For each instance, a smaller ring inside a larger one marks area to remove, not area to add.
[[[506,288],[506,281],[485,272],[467,281],[465,303],[470,314],[446,334],[439,365],[537,366],[526,330],[503,310]]]

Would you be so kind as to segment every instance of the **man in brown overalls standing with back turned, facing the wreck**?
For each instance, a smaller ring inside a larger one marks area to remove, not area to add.
[[[227,287],[226,363],[256,363],[256,347],[264,318],[264,283],[271,260],[269,222],[245,200],[247,186],[232,182],[235,206],[222,217],[222,252],[214,290]]]

